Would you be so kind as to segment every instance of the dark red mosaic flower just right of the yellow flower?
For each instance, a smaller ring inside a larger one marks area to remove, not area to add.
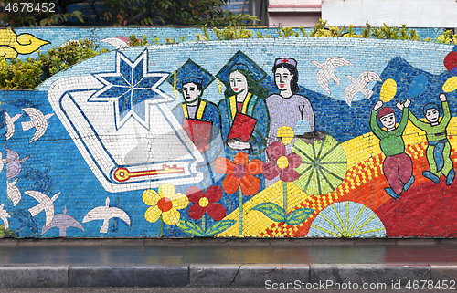
[[[193,220],[201,219],[205,212],[215,221],[220,221],[227,215],[226,208],[216,204],[222,198],[222,189],[219,186],[210,186],[205,194],[201,189],[192,186],[187,188],[186,195],[189,202],[194,203],[189,208],[189,216]]]

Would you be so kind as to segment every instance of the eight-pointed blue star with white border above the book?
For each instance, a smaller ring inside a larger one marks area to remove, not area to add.
[[[147,49],[134,62],[116,52],[116,72],[93,74],[103,87],[92,94],[89,101],[113,101],[117,129],[133,117],[149,130],[149,107],[173,100],[158,89],[169,74],[148,73],[147,60]]]

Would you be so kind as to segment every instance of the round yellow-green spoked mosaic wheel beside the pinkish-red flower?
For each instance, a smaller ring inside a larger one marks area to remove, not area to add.
[[[300,178],[294,181],[307,194],[328,194],[345,180],[347,159],[345,150],[333,137],[306,143],[297,140],[292,152],[302,157],[302,165],[295,169]]]

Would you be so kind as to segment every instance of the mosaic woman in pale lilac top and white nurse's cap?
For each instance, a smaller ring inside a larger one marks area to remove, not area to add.
[[[279,94],[272,94],[266,99],[270,113],[268,145],[274,141],[281,141],[281,137],[278,138],[278,129],[282,126],[300,131],[296,134],[315,131],[314,110],[311,102],[306,97],[297,94],[299,90],[297,61],[292,58],[277,58],[272,71],[274,84],[279,90]],[[295,138],[292,139],[285,146],[287,153],[291,153],[295,140]],[[269,186],[276,181],[278,178],[267,180],[266,184]]]

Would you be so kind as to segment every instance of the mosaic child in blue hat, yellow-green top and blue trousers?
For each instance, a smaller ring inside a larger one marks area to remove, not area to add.
[[[440,107],[434,103],[424,106],[423,114],[427,122],[423,122],[414,116],[409,110],[409,120],[421,131],[427,134],[427,161],[430,171],[424,171],[424,177],[434,183],[440,183],[441,173],[446,177],[446,185],[451,185],[455,171],[451,160],[451,144],[448,141],[446,129],[451,121],[451,111],[445,94],[440,94],[441,107],[444,113],[440,120]]]

